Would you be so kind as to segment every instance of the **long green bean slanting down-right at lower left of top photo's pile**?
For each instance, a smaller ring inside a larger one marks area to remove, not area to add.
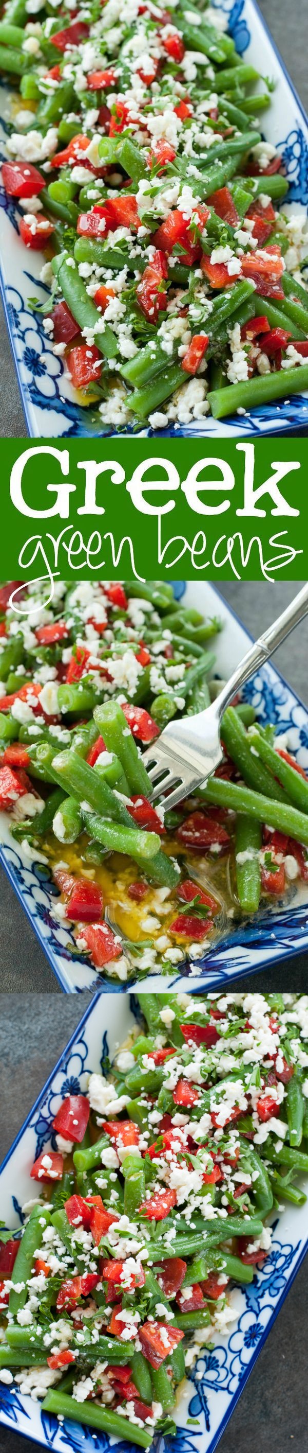
[[[98,308],[88,296],[85,283],[78,273],[78,267],[74,257],[62,253],[59,257],[52,259],[52,269],[58,278],[59,286],[62,289],[65,302],[71,308],[72,317],[80,324],[81,331],[90,330],[94,334],[94,343],[106,357],[114,357],[117,352],[117,340],[110,328],[108,323],[104,324],[104,331],[100,331],[101,317]]]

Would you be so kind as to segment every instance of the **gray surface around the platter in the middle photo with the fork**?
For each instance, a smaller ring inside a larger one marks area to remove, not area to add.
[[[283,610],[299,586],[301,581],[298,586],[285,580],[276,581],[273,593],[273,587],[266,581],[221,581],[221,593],[233,610],[241,616],[252,635],[256,636]],[[308,700],[307,636],[308,628],[304,622],[276,652],[279,670],[304,700]],[[0,902],[1,991],[9,994],[61,994],[52,969],[3,870],[0,872]],[[289,984],[296,989],[305,988],[307,959],[299,955],[283,968],[268,969],[266,984],[269,979],[270,988],[288,988]],[[259,975],[259,981],[260,985],[265,984],[265,975]]]

